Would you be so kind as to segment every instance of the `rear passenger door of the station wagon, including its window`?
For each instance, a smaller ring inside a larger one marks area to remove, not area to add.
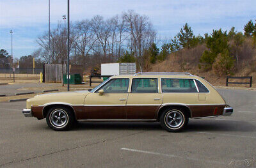
[[[157,78],[134,78],[126,104],[127,119],[155,119],[163,102]]]

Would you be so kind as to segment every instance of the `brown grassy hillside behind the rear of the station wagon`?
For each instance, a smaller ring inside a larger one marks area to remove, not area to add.
[[[256,88],[256,49],[252,38],[246,38],[238,48],[234,44],[234,40],[228,42],[228,45],[230,46],[230,55],[234,57],[234,66],[230,70],[230,73],[218,75],[213,68],[209,70],[198,68],[200,67],[200,57],[202,57],[205,50],[209,50],[205,44],[172,52],[164,61],[157,61],[154,64],[149,63],[146,70],[147,72],[189,72],[200,77],[205,77],[206,80],[215,86],[225,86],[227,75],[239,77],[252,76],[253,88]],[[236,54],[238,61],[236,60]],[[230,84],[230,86],[248,87],[249,85]]]

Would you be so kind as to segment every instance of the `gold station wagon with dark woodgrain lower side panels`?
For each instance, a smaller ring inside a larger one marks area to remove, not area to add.
[[[37,95],[26,106],[24,116],[46,118],[53,130],[67,130],[77,121],[159,121],[177,132],[189,118],[233,112],[209,82],[190,73],[113,76],[89,91]]]

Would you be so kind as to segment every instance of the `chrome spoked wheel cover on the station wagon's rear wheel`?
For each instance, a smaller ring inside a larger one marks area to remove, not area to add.
[[[166,112],[165,123],[170,128],[179,128],[184,123],[184,115],[178,110]]]

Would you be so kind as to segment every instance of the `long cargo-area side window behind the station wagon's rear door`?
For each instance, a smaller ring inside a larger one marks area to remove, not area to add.
[[[197,93],[193,79],[161,79],[163,93]]]

